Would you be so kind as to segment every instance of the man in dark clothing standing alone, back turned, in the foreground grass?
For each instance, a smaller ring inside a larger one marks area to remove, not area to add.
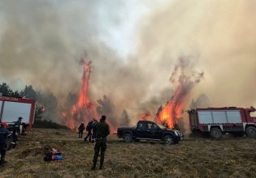
[[[93,156],[93,167],[92,170],[95,170],[96,164],[98,161],[98,154],[101,151],[101,160],[100,160],[100,169],[103,169],[104,156],[106,151],[106,136],[110,134],[110,126],[106,124],[106,116],[102,116],[100,122],[96,125],[97,134],[96,134],[96,143],[94,146],[94,156]]]

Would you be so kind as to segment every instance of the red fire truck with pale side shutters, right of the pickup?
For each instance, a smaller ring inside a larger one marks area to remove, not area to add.
[[[222,134],[256,138],[256,109],[251,108],[197,108],[189,110],[190,129],[221,138]]]

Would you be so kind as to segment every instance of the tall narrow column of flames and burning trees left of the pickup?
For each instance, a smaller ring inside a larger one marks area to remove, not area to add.
[[[107,122],[111,127],[111,132],[114,132],[116,127],[115,117],[109,115],[111,110],[111,100],[106,95],[103,100],[98,100],[98,104],[89,99],[89,78],[92,73],[92,61],[85,61],[84,58],[80,60],[80,65],[83,66],[83,76],[81,78],[81,87],[78,100],[72,108],[67,108],[62,112],[65,118],[65,124],[70,129],[77,129],[81,122],[87,124],[93,118],[98,120],[101,115],[107,115]],[[112,119],[114,118],[114,119]]]

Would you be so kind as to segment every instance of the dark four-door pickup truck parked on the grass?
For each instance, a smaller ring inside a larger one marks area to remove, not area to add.
[[[125,142],[157,140],[166,144],[178,143],[183,138],[183,134],[179,130],[167,129],[153,121],[138,121],[137,126],[120,127],[117,129],[117,136],[124,138]]]

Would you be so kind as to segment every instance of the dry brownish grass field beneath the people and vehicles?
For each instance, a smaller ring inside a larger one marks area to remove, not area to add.
[[[45,146],[60,150],[63,161],[44,162]],[[0,177],[256,177],[256,139],[252,138],[187,136],[166,146],[125,143],[111,135],[102,171],[90,170],[93,146],[72,130],[34,129],[7,151],[8,163],[0,167]]]

